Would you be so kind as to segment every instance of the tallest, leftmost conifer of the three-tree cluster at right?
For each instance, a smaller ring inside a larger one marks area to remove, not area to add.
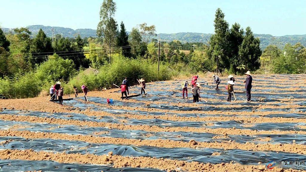
[[[210,38],[209,56],[215,61],[218,58],[220,68],[229,68],[228,60],[228,34],[229,24],[224,19],[224,13],[218,8],[215,14],[215,34]]]

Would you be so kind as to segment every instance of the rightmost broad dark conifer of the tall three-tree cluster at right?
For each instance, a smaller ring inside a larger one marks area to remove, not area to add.
[[[262,53],[259,43],[259,39],[254,38],[251,28],[247,27],[242,44],[239,46],[237,66],[245,65],[246,69],[250,71],[259,69],[259,57]]]

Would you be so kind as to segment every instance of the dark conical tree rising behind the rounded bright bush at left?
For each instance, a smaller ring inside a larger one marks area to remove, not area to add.
[[[46,36],[42,29],[40,29],[36,37],[33,39],[32,45],[30,46],[32,65],[45,61],[43,56],[52,54],[50,52],[53,52],[51,39]]]

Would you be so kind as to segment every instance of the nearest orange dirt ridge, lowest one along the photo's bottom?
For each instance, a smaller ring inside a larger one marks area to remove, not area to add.
[[[150,157],[123,157],[120,155],[113,155],[109,152],[108,155],[93,155],[93,154],[66,154],[66,153],[51,153],[46,151],[33,150],[0,150],[0,157],[2,159],[24,159],[24,160],[51,160],[61,163],[80,163],[80,164],[112,164],[114,168],[120,167],[140,167],[140,168],[155,168],[166,171],[192,171],[192,172],[262,172],[265,170],[264,165],[241,166],[233,163],[219,163],[219,164],[204,164],[198,162],[186,162],[178,160],[170,160],[163,158]],[[283,170],[274,168],[273,172],[295,172],[297,170]]]

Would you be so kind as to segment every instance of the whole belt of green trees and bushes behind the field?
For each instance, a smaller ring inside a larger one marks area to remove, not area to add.
[[[65,93],[72,93],[72,85],[101,90],[120,84],[124,77],[131,84],[139,78],[168,80],[179,74],[214,71],[217,60],[218,69],[224,73],[306,73],[302,43],[286,44],[283,49],[269,45],[262,53],[260,39],[251,28],[244,30],[238,23],[230,27],[221,9],[216,10],[215,33],[203,36],[207,41],[193,38],[197,42],[183,43],[173,39],[160,44],[155,25],[142,23],[128,34],[121,21],[119,31],[115,11],[113,0],[103,1],[99,37],[56,34],[52,41],[43,27],[37,34],[23,27],[5,34],[0,28],[0,94],[8,98],[46,95],[57,81],[63,83]],[[89,66],[94,69],[87,69]]]

